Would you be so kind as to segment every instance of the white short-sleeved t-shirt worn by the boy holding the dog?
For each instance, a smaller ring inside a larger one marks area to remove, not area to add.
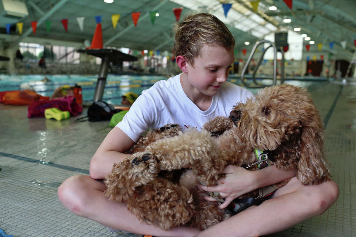
[[[191,127],[200,130],[205,122],[216,116],[228,117],[232,106],[253,96],[247,89],[225,82],[213,96],[210,107],[201,111],[185,95],[179,76],[158,81],[142,91],[116,126],[133,141],[137,141],[148,128],[156,129],[169,123],[180,124],[183,130]]]

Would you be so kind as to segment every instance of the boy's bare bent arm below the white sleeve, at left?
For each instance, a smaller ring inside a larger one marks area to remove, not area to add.
[[[135,142],[120,128],[114,127],[96,150],[90,161],[89,173],[93,179],[103,179],[111,172],[114,163],[119,163],[126,157],[124,154]]]

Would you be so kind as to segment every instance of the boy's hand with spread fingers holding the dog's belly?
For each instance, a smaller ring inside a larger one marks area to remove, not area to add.
[[[242,194],[248,193],[259,187],[256,181],[256,172],[249,171],[241,166],[228,165],[222,173],[226,174],[225,178],[221,178],[216,186],[199,185],[200,190],[208,192],[219,192],[225,198],[224,203],[220,204],[218,208],[226,208],[232,200],[238,198]],[[216,201],[210,196],[205,196],[205,200]]]

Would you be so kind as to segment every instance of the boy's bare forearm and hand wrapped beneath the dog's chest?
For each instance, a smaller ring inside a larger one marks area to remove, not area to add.
[[[226,208],[232,200],[242,194],[294,177],[296,170],[283,171],[274,166],[268,166],[257,171],[249,171],[241,166],[228,165],[223,173],[226,173],[226,177],[220,179],[218,185],[212,187],[199,186],[201,190],[219,192],[225,198],[224,203],[219,205],[220,209]],[[210,196],[206,196],[205,199],[215,201]]]

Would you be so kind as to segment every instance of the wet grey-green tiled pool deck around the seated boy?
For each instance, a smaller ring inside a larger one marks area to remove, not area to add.
[[[325,154],[340,196],[324,214],[268,236],[356,236],[356,86],[320,82],[308,89],[325,123]],[[78,117],[27,118],[27,106],[0,104],[0,228],[7,235],[140,236],[111,234],[59,202],[59,185],[89,173],[90,159],[110,130],[102,130],[108,121],[74,122]]]

